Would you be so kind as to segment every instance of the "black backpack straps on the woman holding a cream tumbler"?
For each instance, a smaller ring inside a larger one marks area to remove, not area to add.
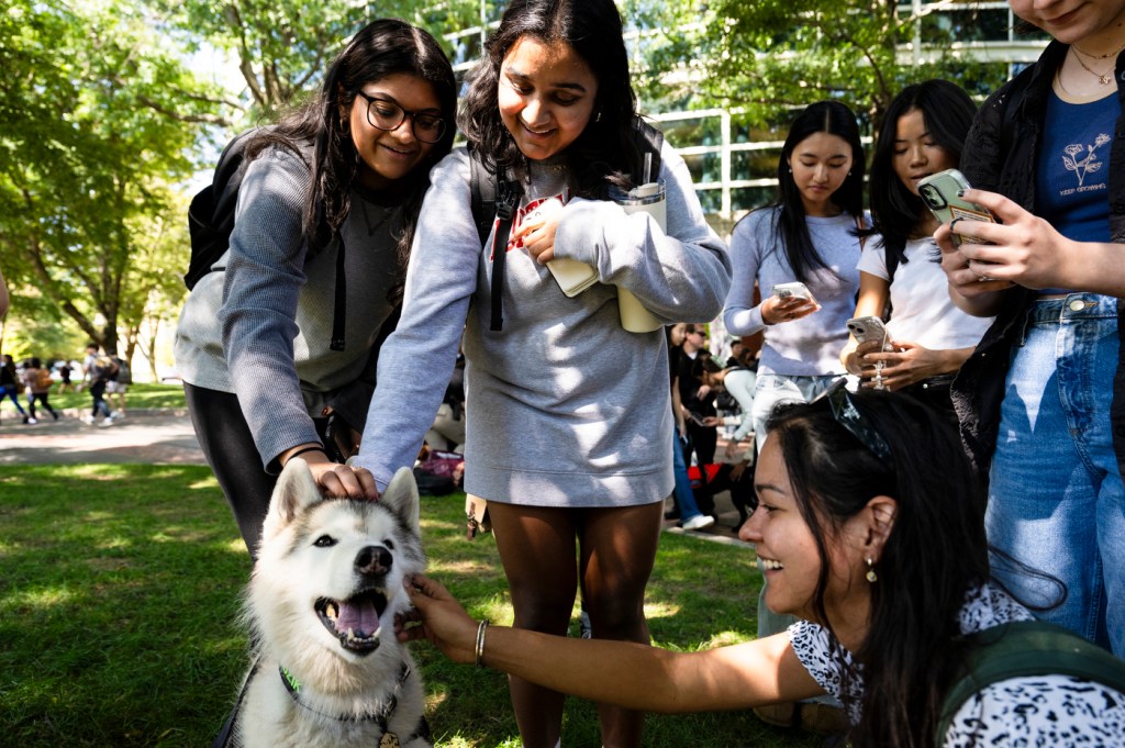
[[[645,181],[645,155],[651,154],[649,163],[649,174],[660,175],[660,147],[664,145],[664,133],[652,127],[644,119],[636,120],[633,128],[633,139],[640,155],[638,163],[633,164],[630,177],[634,184]],[[493,278],[492,278],[492,322],[489,330],[498,331],[504,326],[503,314],[503,281],[504,260],[507,254],[496,247],[507,246],[507,237],[512,231],[512,218],[515,216],[515,208],[520,205],[520,196],[523,188],[520,182],[508,174],[503,179],[489,171],[480,155],[475,148],[469,146],[469,186],[472,193],[472,220],[477,225],[477,235],[480,237],[480,246],[488,241],[488,234],[493,226],[496,226],[496,235],[493,240]],[[192,245],[195,242],[192,242]]]

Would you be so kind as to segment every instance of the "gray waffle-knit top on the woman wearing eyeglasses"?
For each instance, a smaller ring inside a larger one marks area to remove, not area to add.
[[[231,249],[195,287],[180,314],[176,366],[183,381],[234,393],[262,465],[320,438],[325,405],[362,427],[374,387],[379,330],[393,312],[395,240],[402,211],[353,190],[341,240],[309,256],[302,215],[309,171],[271,147],[238,189]],[[328,348],[335,264],[345,247],[343,351]]]

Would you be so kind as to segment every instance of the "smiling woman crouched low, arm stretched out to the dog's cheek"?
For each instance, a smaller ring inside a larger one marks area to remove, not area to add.
[[[800,619],[786,631],[692,652],[489,628],[418,576],[406,586],[421,624],[400,621],[399,638],[633,710],[735,710],[829,693],[845,704],[856,746],[1125,745],[1125,664],[1032,622],[990,580],[983,495],[948,422],[907,395],[843,385],[774,411],[755,477],[759,504],[740,531],[770,580],[766,604]],[[1004,645],[1029,627],[1066,642],[1037,663],[1064,651],[1070,664],[1084,647],[1110,676],[1004,674],[946,703],[971,658],[996,651],[979,632],[1002,633]]]

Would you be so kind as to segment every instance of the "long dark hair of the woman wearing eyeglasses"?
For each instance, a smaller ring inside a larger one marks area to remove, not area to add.
[[[402,292],[418,210],[430,187],[430,169],[453,145],[454,129],[450,125],[457,118],[457,79],[438,42],[406,21],[387,18],[368,24],[332,61],[320,93],[248,146],[248,156],[254,157],[269,145],[282,145],[297,154],[302,153],[302,146],[312,145],[312,178],[303,229],[309,251],[317,252],[336,237],[351,211],[351,189],[359,173],[360,156],[346,112],[363,85],[395,73],[429,81],[438,94],[441,116],[449,125],[429,157],[395,186],[403,205],[403,233],[396,243],[398,282],[393,296]],[[345,112],[343,117],[341,111]]]

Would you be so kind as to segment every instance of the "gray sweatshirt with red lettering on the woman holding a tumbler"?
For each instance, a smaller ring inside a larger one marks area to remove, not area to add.
[[[358,460],[380,487],[414,462],[464,332],[468,493],[590,507],[647,504],[672,492],[665,335],[624,331],[615,286],[666,324],[708,322],[722,308],[730,262],[683,160],[665,146],[662,162],[667,234],[648,215],[569,199],[555,253],[593,265],[601,282],[567,298],[547,267],[512,243],[498,332],[488,328],[492,242],[483,251],[474,225],[468,155],[458,148],[434,168]],[[562,168],[532,164],[521,206],[556,196],[567,196]]]

